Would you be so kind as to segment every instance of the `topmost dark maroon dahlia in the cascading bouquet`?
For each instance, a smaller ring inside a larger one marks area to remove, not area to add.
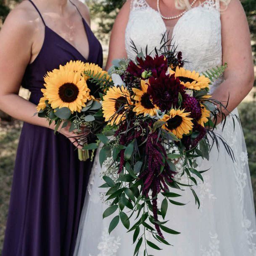
[[[151,56],[147,55],[145,60],[143,58],[137,58],[138,65],[134,62],[130,62],[127,71],[132,74],[134,77],[140,77],[142,79],[147,79],[147,77],[142,77],[144,71],[151,71],[152,77],[159,77],[162,71],[167,71],[168,64],[167,59],[164,58],[164,55],[155,56],[152,58]]]

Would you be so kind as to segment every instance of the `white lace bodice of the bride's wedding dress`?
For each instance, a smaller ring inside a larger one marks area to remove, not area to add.
[[[132,0],[125,34],[128,58],[135,59],[137,48],[148,53],[159,47],[166,26],[160,14],[146,0]],[[187,11],[174,26],[173,42],[183,54],[186,69],[206,71],[222,64],[221,21],[219,0],[207,0]],[[154,51],[152,55],[154,54]]]

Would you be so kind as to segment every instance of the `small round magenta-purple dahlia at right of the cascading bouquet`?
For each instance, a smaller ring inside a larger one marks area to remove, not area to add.
[[[185,108],[186,112],[191,112],[190,117],[197,121],[202,116],[200,103],[195,97],[185,94],[182,101],[182,108]]]

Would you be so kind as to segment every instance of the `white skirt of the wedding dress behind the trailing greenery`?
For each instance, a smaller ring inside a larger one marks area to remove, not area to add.
[[[235,114],[237,110],[234,111]],[[181,232],[179,235],[164,233],[173,246],[159,245],[163,250],[150,251],[154,256],[256,256],[256,218],[248,156],[242,129],[236,123],[235,131],[231,118],[224,132],[218,128],[235,154],[232,162],[224,147],[220,152],[214,147],[210,161],[201,161],[204,183],[195,188],[201,207],[189,189],[174,191],[182,193],[186,206],[169,205],[165,219],[168,227]],[[121,222],[108,234],[110,216],[102,219],[108,207],[103,203],[104,182],[100,178],[100,164],[96,156],[90,177],[88,193],[84,201],[77,245],[74,256],[133,256],[133,232],[127,233]],[[150,234],[147,234],[151,240]],[[152,241],[155,243],[154,239]],[[156,242],[157,243],[157,242]],[[143,245],[139,256],[143,256]]]

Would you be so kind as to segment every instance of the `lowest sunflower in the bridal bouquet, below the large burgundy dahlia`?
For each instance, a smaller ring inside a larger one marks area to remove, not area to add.
[[[161,121],[165,121],[166,124],[162,126],[163,129],[166,129],[169,132],[172,132],[179,139],[182,138],[183,134],[189,134],[193,129],[192,118],[189,116],[190,112],[184,112],[183,110],[175,110],[174,108],[170,111],[169,115],[164,115]]]

